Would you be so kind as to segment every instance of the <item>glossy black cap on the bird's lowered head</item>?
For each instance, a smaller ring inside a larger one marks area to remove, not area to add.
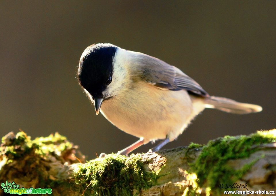
[[[103,98],[102,92],[106,89],[109,76],[112,76],[112,61],[117,49],[112,44],[93,44],[81,55],[78,81],[93,99]]]

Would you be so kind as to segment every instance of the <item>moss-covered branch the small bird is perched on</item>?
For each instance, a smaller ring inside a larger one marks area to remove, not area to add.
[[[85,163],[77,146],[58,133],[31,140],[23,131],[11,132],[0,146],[0,182],[14,181],[19,188],[51,188],[53,195],[275,191],[275,141],[276,129],[130,157],[109,154]]]

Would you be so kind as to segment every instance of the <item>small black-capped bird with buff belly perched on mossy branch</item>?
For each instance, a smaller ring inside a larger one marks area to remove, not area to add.
[[[128,155],[143,144],[162,139],[156,152],[175,140],[205,108],[235,114],[262,111],[259,105],[210,96],[177,67],[155,57],[113,44],[93,44],[81,55],[79,84],[98,115],[122,131],[139,137],[120,150]]]

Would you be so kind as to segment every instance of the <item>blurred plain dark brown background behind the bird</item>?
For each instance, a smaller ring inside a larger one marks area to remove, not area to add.
[[[58,131],[95,157],[137,138],[96,116],[78,60],[108,42],[179,67],[257,114],[205,110],[165,148],[275,128],[276,1],[0,1],[0,135]],[[147,144],[135,152],[146,152]]]

